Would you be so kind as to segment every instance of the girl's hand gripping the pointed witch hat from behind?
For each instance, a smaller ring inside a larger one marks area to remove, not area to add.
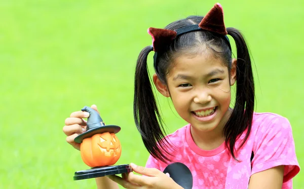
[[[92,105],[91,108],[99,113],[96,105]],[[87,121],[84,118],[88,118],[89,116],[90,114],[86,111],[75,111],[72,112],[69,118],[65,119],[63,132],[67,136],[66,141],[78,150],[80,150],[80,143],[74,142],[74,138],[86,132]]]

